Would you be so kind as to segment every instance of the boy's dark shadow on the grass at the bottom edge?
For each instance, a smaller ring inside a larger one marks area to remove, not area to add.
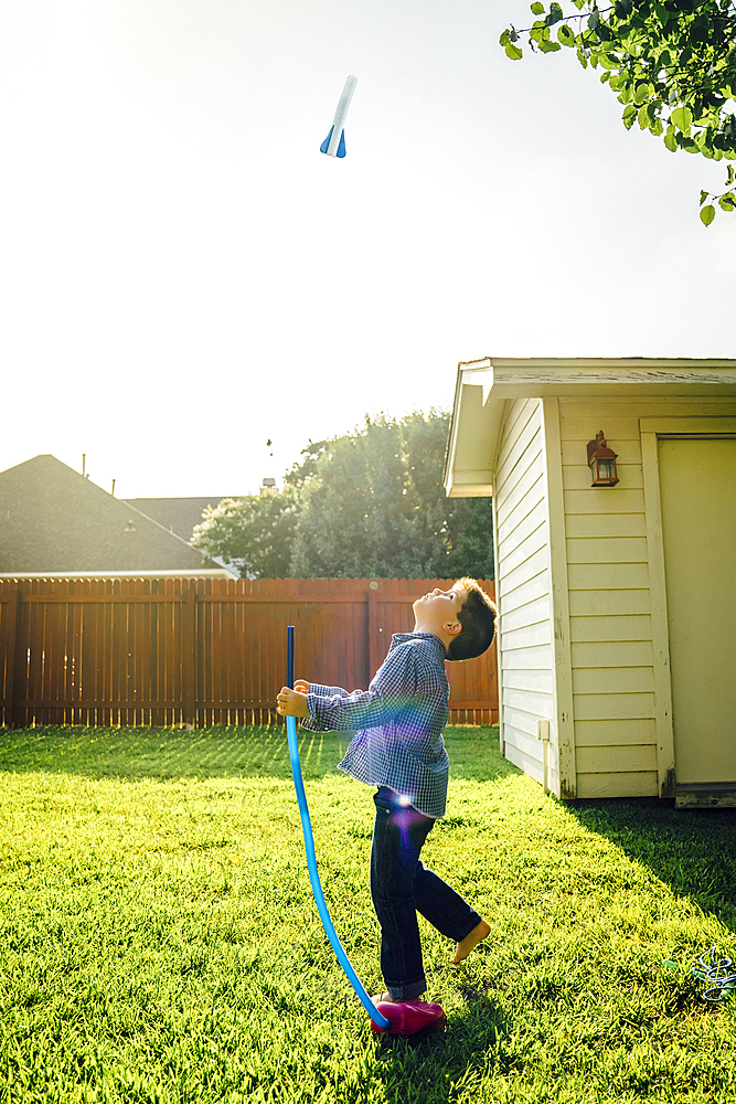
[[[463,996],[463,1011],[442,1032],[378,1037],[377,1075],[388,1104],[446,1104],[480,1082],[489,1052],[506,1033],[505,1013],[484,994]]]

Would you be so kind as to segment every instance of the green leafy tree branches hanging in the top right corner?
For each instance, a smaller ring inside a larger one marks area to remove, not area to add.
[[[659,136],[671,152],[685,150],[721,161],[736,159],[736,7],[733,0],[616,0],[599,9],[597,0],[573,0],[577,14],[565,15],[552,0],[548,10],[535,0],[531,28],[506,28],[500,38],[506,55],[522,56],[520,34],[532,50],[577,51],[584,68],[601,67],[600,79],[623,105],[627,129],[638,123]],[[552,28],[559,24],[556,41]],[[573,25],[570,25],[573,24]],[[734,183],[728,166],[726,189]],[[716,213],[736,208],[736,193],[701,192],[701,219],[708,226]]]

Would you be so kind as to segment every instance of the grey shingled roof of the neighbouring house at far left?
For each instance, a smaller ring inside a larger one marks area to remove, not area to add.
[[[0,471],[0,574],[172,572],[232,575],[54,456]]]

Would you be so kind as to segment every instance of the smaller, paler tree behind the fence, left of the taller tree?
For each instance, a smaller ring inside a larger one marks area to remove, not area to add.
[[[297,519],[294,487],[225,498],[205,509],[192,544],[235,564],[244,578],[282,578],[289,574]]]

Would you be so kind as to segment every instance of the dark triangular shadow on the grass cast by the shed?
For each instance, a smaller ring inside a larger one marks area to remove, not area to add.
[[[569,811],[736,931],[736,809],[675,810],[658,798],[608,798]]]

